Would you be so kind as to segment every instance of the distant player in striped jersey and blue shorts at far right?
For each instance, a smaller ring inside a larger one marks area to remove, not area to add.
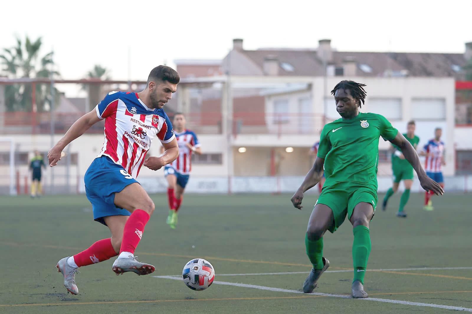
[[[420,152],[420,156],[426,156],[424,170],[426,174],[433,179],[434,181],[438,182],[441,188],[444,189],[444,178],[442,175],[441,167],[446,165],[446,158],[445,158],[445,149],[444,149],[444,142],[441,140],[442,136],[442,129],[436,128],[434,129],[434,139],[429,140],[426,145],[424,145],[423,149]],[[434,194],[432,191],[426,191],[424,197],[424,210],[433,210],[433,203],[431,201],[431,196]]]

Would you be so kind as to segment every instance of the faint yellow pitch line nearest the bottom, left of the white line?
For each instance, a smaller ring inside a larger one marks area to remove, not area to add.
[[[10,306],[69,306],[69,305],[92,305],[92,304],[124,304],[124,303],[163,303],[183,301],[233,301],[233,300],[273,300],[273,299],[301,299],[308,297],[324,296],[296,296],[296,297],[223,297],[209,299],[179,299],[179,300],[133,300],[133,301],[97,301],[97,302],[68,302],[68,303],[31,303],[31,304],[0,304],[0,307]]]

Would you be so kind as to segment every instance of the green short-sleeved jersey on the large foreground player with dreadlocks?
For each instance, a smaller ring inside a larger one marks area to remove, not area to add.
[[[379,137],[393,140],[397,133],[384,116],[373,113],[359,113],[353,119],[326,124],[317,154],[324,158],[323,190],[342,182],[377,190]]]

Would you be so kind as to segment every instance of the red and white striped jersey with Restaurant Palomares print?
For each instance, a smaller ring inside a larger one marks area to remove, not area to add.
[[[110,91],[95,111],[100,119],[105,119],[105,142],[97,157],[110,157],[134,178],[154,136],[162,143],[169,143],[175,137],[164,110],[146,107],[137,93]]]

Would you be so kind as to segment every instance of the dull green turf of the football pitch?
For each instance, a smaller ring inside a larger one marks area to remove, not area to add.
[[[304,273],[219,274],[308,272],[304,232],[315,195],[306,196],[302,211],[291,206],[289,195],[186,195],[176,230],[165,223],[166,196],[152,198],[156,212],[136,255],[156,265],[155,275],[178,275],[188,260],[203,257],[215,267],[217,281],[301,288]],[[423,195],[412,194],[405,208],[407,219],[395,216],[399,199],[399,195],[392,197],[388,210],[379,209],[371,223],[368,269],[472,266],[471,195],[435,197],[436,209],[425,212],[421,209]],[[451,312],[218,284],[197,292],[180,280],[134,273],[116,276],[111,271],[113,259],[80,269],[76,277],[80,294],[71,296],[62,286],[55,264],[109,237],[106,227],[93,222],[85,196],[3,196],[0,204],[0,313]],[[352,240],[349,222],[325,236],[329,270],[352,268]],[[351,281],[351,272],[326,273],[315,292],[347,295]],[[365,287],[371,297],[472,308],[471,269],[368,271]]]

